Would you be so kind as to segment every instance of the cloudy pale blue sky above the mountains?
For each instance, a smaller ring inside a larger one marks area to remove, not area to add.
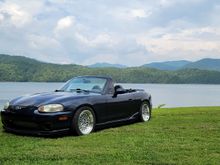
[[[220,0],[0,0],[0,54],[60,64],[220,58]]]

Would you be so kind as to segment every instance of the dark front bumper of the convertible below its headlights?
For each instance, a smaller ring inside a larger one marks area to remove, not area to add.
[[[35,110],[33,114],[25,115],[1,111],[1,120],[3,128],[9,132],[30,135],[56,135],[70,130],[72,112],[39,113]]]

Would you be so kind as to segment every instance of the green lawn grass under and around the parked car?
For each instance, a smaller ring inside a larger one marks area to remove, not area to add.
[[[220,107],[155,109],[148,123],[29,137],[0,125],[0,164],[219,164]]]

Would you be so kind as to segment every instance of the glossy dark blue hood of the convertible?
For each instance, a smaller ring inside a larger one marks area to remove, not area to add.
[[[33,95],[21,96],[10,102],[11,105],[20,106],[40,106],[46,104],[62,104],[63,102],[84,98],[88,96],[100,95],[98,93],[89,92],[50,92],[37,93]]]

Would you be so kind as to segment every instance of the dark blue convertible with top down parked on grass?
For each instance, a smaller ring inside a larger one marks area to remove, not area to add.
[[[14,133],[51,135],[73,131],[91,133],[96,126],[151,118],[151,96],[124,89],[110,77],[81,76],[59,90],[18,97],[1,111],[3,127]]]

